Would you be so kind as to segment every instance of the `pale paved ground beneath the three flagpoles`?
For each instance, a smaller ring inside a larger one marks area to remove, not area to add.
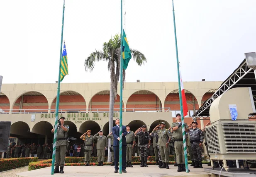
[[[133,168],[127,168],[127,173],[122,173],[126,177],[211,177],[210,173],[204,172],[204,169],[190,168],[190,172],[177,172],[177,167],[169,165],[170,169],[159,169],[156,165],[149,165],[148,168],[141,168],[139,165],[134,165]],[[207,165],[203,165],[207,168]],[[64,174],[54,174],[61,177],[118,177],[119,173],[114,173],[112,166],[66,166],[64,167]],[[21,172],[17,177],[52,177],[51,168],[41,168],[28,172]],[[213,176],[212,176],[213,177]],[[215,175],[214,175],[215,177]]]

